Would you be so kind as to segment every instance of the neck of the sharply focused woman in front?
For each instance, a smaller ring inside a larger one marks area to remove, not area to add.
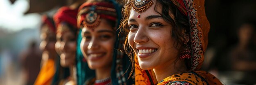
[[[184,60],[178,60],[176,63],[174,61],[168,62],[167,64],[154,68],[153,71],[155,72],[157,81],[160,82],[173,74],[178,74],[187,71],[187,68],[184,63]]]

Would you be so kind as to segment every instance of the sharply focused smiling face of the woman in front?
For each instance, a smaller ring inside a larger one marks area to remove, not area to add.
[[[142,69],[173,65],[178,54],[178,50],[173,46],[174,39],[171,37],[173,27],[155,12],[155,3],[154,1],[154,4],[142,13],[131,9],[128,20],[128,43],[137,55]],[[161,13],[160,6],[157,6],[157,11]],[[137,17],[139,14],[140,18]]]

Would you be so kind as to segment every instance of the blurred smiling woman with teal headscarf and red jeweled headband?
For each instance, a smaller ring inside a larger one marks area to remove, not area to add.
[[[124,36],[119,33],[121,5],[114,0],[88,1],[79,8],[77,17],[80,29],[77,48],[85,57],[94,76],[85,72],[85,85],[131,85],[129,57],[122,53]],[[80,46],[79,46],[80,45]],[[79,52],[79,51],[78,51]],[[79,53],[78,53],[79,54]],[[83,60],[80,57],[80,60]]]

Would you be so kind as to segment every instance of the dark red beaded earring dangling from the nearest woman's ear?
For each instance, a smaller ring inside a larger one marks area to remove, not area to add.
[[[191,58],[191,49],[189,48],[189,45],[187,45],[187,43],[189,42],[189,35],[184,34],[183,37],[184,46],[182,47],[182,50],[180,52],[180,59],[182,60]]]

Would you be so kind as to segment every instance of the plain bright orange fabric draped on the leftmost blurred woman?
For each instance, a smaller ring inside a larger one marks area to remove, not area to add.
[[[49,59],[41,68],[34,85],[51,85],[55,73],[54,60]]]

